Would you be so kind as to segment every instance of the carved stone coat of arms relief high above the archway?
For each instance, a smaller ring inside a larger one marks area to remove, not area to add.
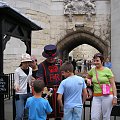
[[[95,0],[64,0],[64,15],[69,16],[72,21],[72,15],[85,14],[87,19],[95,14]]]

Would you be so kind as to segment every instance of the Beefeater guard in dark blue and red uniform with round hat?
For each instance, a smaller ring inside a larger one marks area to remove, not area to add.
[[[43,57],[46,58],[42,63],[39,64],[38,66],[38,72],[36,74],[37,78],[39,80],[44,80],[45,85],[50,88],[56,85],[59,85],[60,82],[62,81],[62,76],[60,72],[60,66],[62,64],[61,60],[56,60],[55,57],[57,56],[57,48],[55,45],[46,45],[44,47],[44,51],[42,53]],[[53,96],[56,96],[55,90],[53,93]],[[53,97],[54,99],[50,100],[51,106],[53,108],[53,116],[52,114],[49,116],[49,118],[54,117],[56,119],[59,117],[58,113],[56,112],[56,98]],[[54,102],[53,102],[54,101]]]

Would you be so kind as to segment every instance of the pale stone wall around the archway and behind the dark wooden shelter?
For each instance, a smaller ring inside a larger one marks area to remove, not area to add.
[[[91,21],[87,21],[85,15],[73,15],[72,22],[69,17],[64,15],[63,0],[2,0],[7,2],[10,6],[16,8],[20,13],[32,19],[36,24],[40,25],[43,30],[32,32],[32,54],[36,55],[38,61],[41,62],[44,58],[41,56],[43,47],[46,44],[57,44],[69,31],[77,31],[76,23],[84,23],[86,27],[90,28],[90,32],[98,36],[103,42],[107,43],[110,50],[110,1],[97,0],[96,1],[96,15],[93,15]],[[11,38],[12,39],[12,38]],[[8,43],[7,43],[8,44]],[[16,45],[9,42],[9,51]],[[79,45],[78,45],[79,46]],[[22,48],[22,49],[21,49]],[[25,52],[24,45],[21,48],[16,47],[16,58],[20,59],[21,53]],[[24,49],[23,49],[24,48]],[[16,66],[19,65],[20,60],[14,59],[14,55],[7,54],[5,50],[5,65],[4,72],[14,72]],[[7,56],[7,57],[6,57]],[[8,59],[13,58],[11,63]],[[14,64],[17,63],[17,65]],[[9,68],[7,66],[15,66]],[[7,70],[6,70],[7,69]]]

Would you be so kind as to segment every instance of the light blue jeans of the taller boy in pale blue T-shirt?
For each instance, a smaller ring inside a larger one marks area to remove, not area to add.
[[[65,108],[64,109],[64,120],[81,120],[82,108]]]

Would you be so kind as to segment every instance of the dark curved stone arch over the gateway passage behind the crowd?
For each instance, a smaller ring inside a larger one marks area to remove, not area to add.
[[[110,47],[106,41],[103,41],[101,38],[85,29],[79,29],[67,34],[57,43],[59,58],[67,59],[70,51],[82,44],[91,45],[103,53],[104,57],[108,56],[108,50]]]

